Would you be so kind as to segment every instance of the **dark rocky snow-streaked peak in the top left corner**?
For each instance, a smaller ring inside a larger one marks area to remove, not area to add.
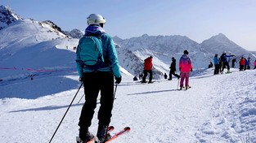
[[[10,7],[0,6],[0,30],[17,20],[22,20],[22,17],[13,12]]]

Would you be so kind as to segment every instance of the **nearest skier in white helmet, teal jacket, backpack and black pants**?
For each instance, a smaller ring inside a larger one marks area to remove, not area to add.
[[[101,91],[97,138],[105,142],[114,103],[114,82],[119,84],[122,76],[114,41],[103,29],[105,18],[92,14],[87,20],[88,27],[76,50],[79,80],[83,82],[86,100],[79,118],[79,138],[83,143],[93,138],[88,128],[92,124],[98,93]]]

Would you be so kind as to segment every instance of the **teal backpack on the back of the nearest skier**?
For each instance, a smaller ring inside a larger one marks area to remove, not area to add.
[[[79,41],[78,54],[85,67],[97,70],[104,64],[101,37],[84,36]]]

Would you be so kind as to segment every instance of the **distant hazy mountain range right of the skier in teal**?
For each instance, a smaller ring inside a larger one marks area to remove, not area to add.
[[[224,34],[211,37],[201,44],[192,41],[188,37],[182,36],[148,36],[132,37],[130,39],[121,39],[114,37],[114,41],[119,45],[119,54],[125,54],[120,61],[122,67],[128,68],[128,71],[137,75],[142,71],[143,60],[153,55],[153,64],[155,75],[162,76],[168,72],[168,66],[172,57],[177,60],[183,54],[183,50],[189,51],[189,56],[193,61],[193,68],[199,69],[207,67],[209,62],[213,61],[214,54],[221,55],[223,51],[227,54],[235,54],[236,58],[245,56],[249,51],[230,41]],[[137,57],[133,63],[128,57]],[[254,56],[251,56],[254,61]],[[237,59],[237,60],[239,60]]]

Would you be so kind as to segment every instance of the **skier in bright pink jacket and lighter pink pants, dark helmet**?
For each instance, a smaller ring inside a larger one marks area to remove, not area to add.
[[[179,70],[181,72],[181,82],[180,82],[180,88],[183,88],[183,82],[185,80],[185,87],[186,89],[190,88],[189,85],[189,76],[190,72],[192,72],[192,61],[191,58],[188,57],[188,51],[184,50],[182,57],[179,61]]]

